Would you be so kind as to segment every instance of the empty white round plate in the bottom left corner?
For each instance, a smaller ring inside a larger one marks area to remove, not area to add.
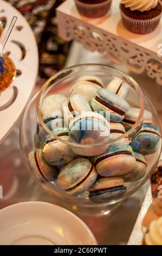
[[[44,202],[0,210],[0,245],[97,245],[87,225],[72,212]]]

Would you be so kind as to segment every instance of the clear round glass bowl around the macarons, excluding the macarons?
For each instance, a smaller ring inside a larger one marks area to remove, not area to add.
[[[122,134],[118,138],[113,139],[113,141],[111,142],[101,141],[99,143],[97,142],[94,144],[92,142],[90,142],[89,144],[79,144],[72,141],[65,141],[63,138],[54,134],[49,129],[49,127],[43,122],[42,119],[42,102],[47,96],[49,96],[50,94],[61,94],[68,97],[70,88],[72,88],[72,86],[74,85],[74,83],[76,83],[78,78],[80,78],[81,76],[89,75],[98,76],[102,80],[105,87],[113,79],[125,83],[125,86],[128,88],[129,91],[129,94],[127,96],[127,102],[131,107],[139,108],[138,117],[135,123],[132,124],[132,127],[130,129],[127,129],[127,131],[124,134]],[[88,197],[88,191],[80,194],[79,196],[69,196],[64,190],[62,190],[59,187],[59,185],[57,184],[57,179],[51,180],[50,182],[46,182],[45,180],[41,182],[37,178],[33,170],[30,169],[28,163],[28,155],[31,151],[36,149],[36,140],[34,138],[42,139],[44,138],[44,136],[47,136],[48,138],[57,139],[62,143],[66,143],[68,147],[72,148],[74,151],[79,152],[80,155],[82,150],[86,150],[86,152],[89,152],[90,156],[88,159],[92,163],[94,163],[94,157],[92,156],[93,154],[90,154],[90,152],[92,152],[94,148],[97,149],[99,155],[103,153],[103,148],[105,151],[105,149],[108,149],[114,143],[120,143],[121,140],[124,138],[129,138],[129,141],[131,141],[131,139],[134,138],[139,133],[141,125],[145,123],[144,112],[146,110],[152,114],[152,124],[159,129],[159,132],[161,134],[158,114],[155,108],[153,107],[151,100],[148,98],[146,94],[142,93],[137,82],[135,82],[131,76],[110,66],[98,64],[83,64],[61,70],[44,84],[40,92],[33,97],[29,105],[25,109],[20,131],[20,144],[25,166],[28,168],[33,178],[38,182],[38,184],[40,184],[43,187],[44,190],[46,190],[54,197],[62,199],[66,203],[90,208],[99,208],[101,206],[104,207],[112,205],[114,203],[118,203],[121,200],[131,196],[148,180],[148,178],[150,178],[150,173],[155,168],[159,160],[161,152],[161,139],[159,139],[158,147],[154,151],[154,153],[145,155],[145,159],[147,161],[146,174],[137,181],[125,182],[127,190],[126,193],[120,198],[112,198],[107,200],[106,202],[101,203],[93,203]],[[82,157],[87,158],[88,155],[84,155]],[[59,167],[59,172],[61,172],[62,168],[64,167]]]

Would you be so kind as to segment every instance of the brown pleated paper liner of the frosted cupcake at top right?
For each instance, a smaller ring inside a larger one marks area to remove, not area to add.
[[[148,34],[154,31],[155,28],[157,28],[161,14],[158,16],[149,19],[149,20],[137,20],[133,19],[131,17],[126,16],[123,11],[121,10],[121,5],[120,5],[120,13],[122,17],[122,22],[128,31],[131,31],[132,33],[135,34]]]

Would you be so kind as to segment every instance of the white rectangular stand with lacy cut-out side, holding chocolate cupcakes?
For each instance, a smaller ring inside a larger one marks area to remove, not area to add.
[[[113,0],[111,13],[91,19],[79,14],[74,0],[63,2],[57,8],[60,36],[67,41],[76,39],[90,51],[106,52],[113,62],[125,63],[137,74],[146,71],[162,85],[162,19],[154,32],[133,34],[122,25],[119,4],[120,0]]]

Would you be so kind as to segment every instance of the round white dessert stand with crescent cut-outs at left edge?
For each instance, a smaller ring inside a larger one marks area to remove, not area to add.
[[[9,135],[27,105],[38,74],[38,49],[33,31],[21,13],[2,0],[0,0],[0,20],[5,21],[5,28],[1,42],[14,15],[17,16],[17,22],[4,53],[14,61],[17,76],[0,94],[0,144]]]

